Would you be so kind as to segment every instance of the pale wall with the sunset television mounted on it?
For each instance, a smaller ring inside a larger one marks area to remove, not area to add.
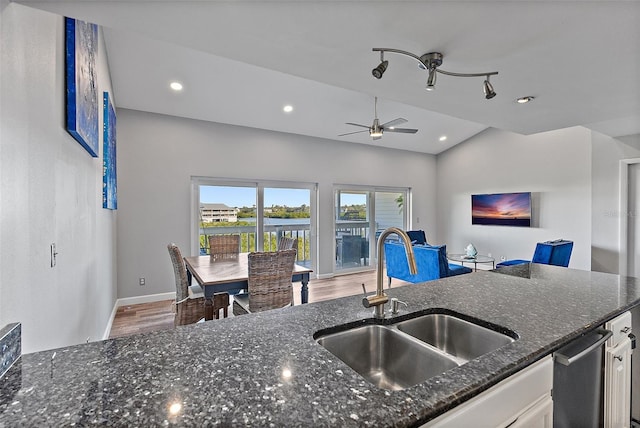
[[[473,243],[498,261],[531,260],[536,242],[574,241],[570,267],[591,264],[590,131],[523,136],[488,129],[437,156],[438,235],[450,252]],[[471,194],[532,192],[533,227],[471,224]]]

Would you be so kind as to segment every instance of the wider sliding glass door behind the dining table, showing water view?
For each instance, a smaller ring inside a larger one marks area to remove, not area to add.
[[[192,186],[194,251],[208,254],[215,234],[239,234],[241,252],[276,251],[286,236],[298,240],[297,263],[315,268],[315,184],[194,177]]]

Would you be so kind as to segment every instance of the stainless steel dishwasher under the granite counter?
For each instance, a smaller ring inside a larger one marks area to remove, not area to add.
[[[602,426],[604,344],[612,334],[594,330],[554,354],[554,428]]]

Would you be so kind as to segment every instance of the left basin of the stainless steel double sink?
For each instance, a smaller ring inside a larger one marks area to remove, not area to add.
[[[382,389],[408,388],[458,366],[453,358],[381,325],[356,327],[317,341]]]

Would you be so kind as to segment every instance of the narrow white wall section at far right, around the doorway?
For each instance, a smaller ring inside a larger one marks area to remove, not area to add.
[[[640,158],[640,135],[611,138],[592,133],[591,269],[619,272],[620,160]]]

